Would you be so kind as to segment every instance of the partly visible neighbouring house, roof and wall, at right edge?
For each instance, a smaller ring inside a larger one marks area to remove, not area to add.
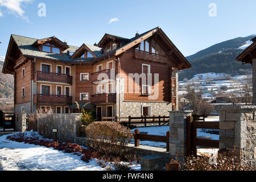
[[[251,46],[237,56],[237,61],[253,65],[253,105],[256,105],[256,37],[251,41],[253,42]]]

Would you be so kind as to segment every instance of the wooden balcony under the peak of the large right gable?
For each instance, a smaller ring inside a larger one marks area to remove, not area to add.
[[[157,55],[155,53],[150,53],[146,51],[138,51],[135,49],[135,59],[143,59],[149,61],[155,61],[158,63],[167,63],[168,64],[168,56]]]

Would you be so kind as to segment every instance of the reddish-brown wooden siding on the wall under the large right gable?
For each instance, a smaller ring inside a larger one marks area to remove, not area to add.
[[[151,73],[159,73],[159,89],[158,98],[156,100],[149,100],[147,96],[141,96],[141,83],[139,85],[139,93],[135,93],[135,88],[133,88],[134,93],[125,93],[125,101],[164,101],[170,102],[170,67],[168,64],[159,64],[153,61],[147,61],[142,59],[134,59],[134,49],[131,48],[120,57],[121,63],[121,73],[126,76],[129,73],[142,73],[142,64],[150,65]],[[132,81],[130,79],[130,81]],[[130,82],[131,84],[131,82]],[[135,80],[133,80],[133,84]],[[127,86],[129,85],[129,80],[127,80]],[[154,89],[154,75],[152,75],[152,89]],[[156,93],[155,93],[156,94]]]

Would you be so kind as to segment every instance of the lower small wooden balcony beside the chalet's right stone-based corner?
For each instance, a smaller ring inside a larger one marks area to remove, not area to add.
[[[117,100],[115,93],[102,93],[91,96],[92,104],[115,104]]]

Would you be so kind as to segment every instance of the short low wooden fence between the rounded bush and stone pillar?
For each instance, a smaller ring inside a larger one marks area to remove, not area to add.
[[[166,136],[159,136],[159,135],[147,135],[147,134],[140,134],[139,130],[134,131],[134,146],[139,147],[139,140],[147,140],[151,142],[164,142],[166,143],[166,151],[169,151],[170,144],[169,144],[169,137],[170,133],[167,131]]]

